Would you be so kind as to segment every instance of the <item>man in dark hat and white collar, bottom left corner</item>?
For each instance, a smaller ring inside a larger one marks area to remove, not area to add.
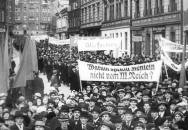
[[[27,128],[24,126],[24,116],[21,111],[15,112],[15,124],[10,127],[10,130],[27,130]]]

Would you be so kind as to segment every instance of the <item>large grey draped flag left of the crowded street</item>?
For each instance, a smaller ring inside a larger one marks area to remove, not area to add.
[[[15,78],[14,87],[25,87],[27,80],[33,80],[34,71],[38,71],[37,51],[35,41],[26,37],[26,43],[22,53],[20,68]]]

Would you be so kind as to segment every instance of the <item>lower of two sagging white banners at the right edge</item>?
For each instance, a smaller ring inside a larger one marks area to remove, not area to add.
[[[163,60],[164,64],[166,64],[174,71],[179,72],[181,70],[181,65],[174,63],[172,59],[169,57],[169,55],[164,51],[161,52],[161,59]]]

